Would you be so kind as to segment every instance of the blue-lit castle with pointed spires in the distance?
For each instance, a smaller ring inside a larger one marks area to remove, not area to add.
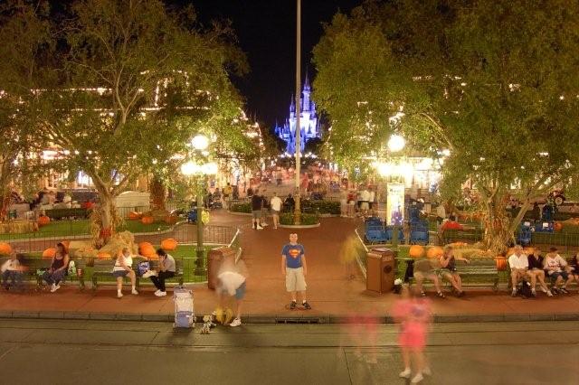
[[[318,115],[316,114],[316,103],[309,99],[310,93],[311,89],[309,87],[308,75],[306,75],[304,88],[301,91],[301,108],[299,108],[299,145],[302,153],[306,143],[310,139],[316,137],[321,139],[322,137],[319,130]],[[292,98],[291,105],[289,106],[289,118],[286,118],[283,126],[279,126],[276,123],[273,128],[275,135],[279,136],[286,142],[286,152],[288,154],[295,154],[296,152],[296,120],[296,105]]]

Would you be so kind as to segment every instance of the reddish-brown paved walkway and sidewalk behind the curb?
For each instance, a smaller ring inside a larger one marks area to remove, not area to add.
[[[357,220],[359,221],[359,220]],[[247,295],[243,306],[246,323],[275,322],[343,322],[348,315],[375,315],[391,321],[389,310],[398,296],[377,295],[365,291],[362,277],[346,280],[339,263],[340,243],[356,227],[356,220],[327,218],[317,229],[298,230],[299,242],[306,248],[308,260],[308,302],[310,311],[285,309],[289,295],[280,272],[280,250],[288,241],[290,230],[252,230],[251,218],[223,211],[212,213],[212,224],[231,224],[242,230],[243,258],[249,268]],[[205,315],[214,310],[216,296],[204,284],[192,285],[195,313]],[[535,299],[512,298],[507,292],[468,291],[467,296],[440,299],[431,295],[435,320],[438,322],[480,322],[517,320],[579,320],[579,295]],[[169,296],[153,296],[153,286],[141,288],[138,296],[116,298],[115,286],[100,287],[95,295],[90,289],[80,292],[76,286],[63,286],[54,294],[0,294],[0,317],[14,318],[84,318],[145,321],[172,321],[174,305]],[[233,305],[233,304],[232,304]]]

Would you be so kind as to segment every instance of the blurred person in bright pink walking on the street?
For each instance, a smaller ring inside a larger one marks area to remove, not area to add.
[[[411,383],[418,383],[423,380],[423,374],[431,374],[424,359],[427,331],[432,320],[431,305],[426,298],[415,298],[407,285],[403,285],[401,294],[402,298],[393,309],[394,321],[400,325],[398,345],[404,364],[400,377],[409,379],[413,366],[415,374]]]

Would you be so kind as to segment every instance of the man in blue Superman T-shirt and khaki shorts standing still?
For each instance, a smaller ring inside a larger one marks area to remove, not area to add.
[[[301,305],[311,309],[306,301],[306,250],[298,243],[298,234],[289,234],[289,243],[281,249],[281,274],[286,277],[286,289],[291,293],[289,308],[295,309],[298,305],[296,293],[301,294]]]

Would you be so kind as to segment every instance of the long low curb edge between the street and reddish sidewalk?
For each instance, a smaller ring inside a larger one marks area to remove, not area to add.
[[[43,320],[90,320],[90,321],[174,321],[174,315],[140,313],[81,313],[50,311],[0,311],[0,319],[43,319]],[[390,315],[375,315],[378,324],[394,324]],[[497,315],[434,315],[434,324],[489,323],[489,322],[537,322],[579,321],[579,313],[563,314],[497,314]],[[196,315],[196,322],[203,323],[203,315]],[[244,324],[349,324],[351,317],[345,315],[247,315]]]

